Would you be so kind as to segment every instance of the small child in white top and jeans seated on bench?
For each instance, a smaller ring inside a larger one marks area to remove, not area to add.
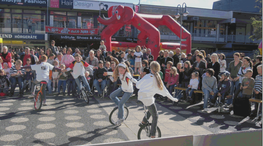
[[[192,79],[190,79],[190,84],[187,85],[188,88],[185,91],[186,97],[187,97],[186,100],[192,99],[192,94],[194,93],[194,91],[197,90],[198,85],[199,85],[198,77],[199,77],[198,72],[192,73]],[[189,93],[189,91],[190,91],[190,93]]]

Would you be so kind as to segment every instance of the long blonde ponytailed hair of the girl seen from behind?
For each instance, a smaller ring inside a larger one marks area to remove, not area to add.
[[[159,63],[156,61],[152,61],[150,66],[151,66],[151,71],[156,79],[156,83],[157,83],[159,90],[163,90],[163,81],[159,73],[160,72]]]

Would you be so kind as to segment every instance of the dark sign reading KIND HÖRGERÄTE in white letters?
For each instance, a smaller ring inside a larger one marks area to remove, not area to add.
[[[8,40],[45,40],[44,34],[0,33],[0,37]]]

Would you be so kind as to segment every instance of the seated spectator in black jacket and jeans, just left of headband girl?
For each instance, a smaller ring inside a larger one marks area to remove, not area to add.
[[[99,97],[102,97],[103,90],[106,87],[106,78],[107,76],[103,76],[104,72],[107,72],[107,69],[103,67],[103,62],[99,61],[99,68],[94,72],[94,86],[98,91]],[[99,85],[101,83],[101,87]]]

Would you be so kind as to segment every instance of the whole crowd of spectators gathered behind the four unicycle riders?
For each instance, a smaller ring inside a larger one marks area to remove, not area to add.
[[[124,62],[132,76],[139,74],[139,78],[143,78],[150,73],[151,61],[156,60],[161,66],[160,76],[170,94],[175,92],[174,87],[187,88],[182,94],[175,93],[178,100],[197,103],[201,101],[202,95],[196,95],[193,92],[202,90],[205,111],[209,110],[208,106],[215,106],[215,104],[222,109],[233,108],[233,99],[239,97],[262,100],[262,56],[260,55],[255,60],[250,60],[244,53],[235,53],[234,61],[227,65],[223,53],[214,53],[210,56],[210,54],[206,55],[204,50],[196,50],[192,55],[182,53],[180,48],[177,48],[175,54],[172,51],[161,50],[159,56],[154,59],[151,49],[145,46],[136,46],[135,49],[127,49],[125,52],[115,52],[115,50],[110,52],[106,51],[103,41],[98,49],[90,50],[88,56],[84,56],[78,48],[73,52],[70,47],[56,47],[55,41],[51,41],[51,46],[46,50],[26,47],[15,51],[6,46],[2,49],[0,91],[3,94],[0,95],[13,96],[17,84],[20,97],[23,97],[24,91],[31,90],[31,81],[36,79],[36,73],[30,69],[21,70],[20,66],[34,65],[40,56],[45,54],[48,57],[48,63],[64,69],[69,67],[75,60],[74,55],[78,53],[82,60],[98,67],[94,70],[86,68],[85,77],[90,87],[93,87],[91,90],[94,91],[96,88],[100,97],[105,88],[111,93],[118,88],[117,84],[120,84],[119,80],[115,81],[110,76],[103,76],[104,72],[113,72],[120,62]],[[228,70],[226,70],[227,66]],[[48,93],[52,94],[57,87],[57,93],[60,95],[62,86],[63,95],[66,95],[66,92],[67,95],[76,95],[76,83],[71,73],[70,71],[65,73],[50,71]],[[136,94],[136,89],[134,92]],[[221,98],[221,103],[216,102],[217,97]],[[159,98],[163,99],[161,96]],[[255,111],[257,108],[256,106]],[[255,111],[252,111],[252,115],[255,115]]]

